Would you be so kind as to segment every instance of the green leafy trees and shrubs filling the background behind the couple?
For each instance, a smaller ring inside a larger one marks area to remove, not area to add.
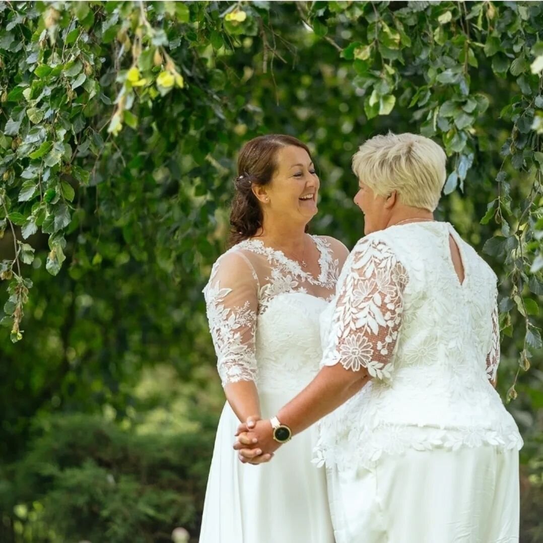
[[[197,540],[237,151],[307,142],[311,228],[352,247],[351,156],[388,130],[443,145],[437,218],[500,278],[542,541],[542,32],[532,2],[0,2],[0,541]]]

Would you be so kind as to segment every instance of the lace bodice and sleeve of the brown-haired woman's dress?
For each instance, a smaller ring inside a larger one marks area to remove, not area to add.
[[[312,239],[318,277],[257,239],[214,263],[204,295],[223,386],[254,381],[259,390],[298,390],[318,372],[319,315],[335,293],[347,250],[333,238]]]

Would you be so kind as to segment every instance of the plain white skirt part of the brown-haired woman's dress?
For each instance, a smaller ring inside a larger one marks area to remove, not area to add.
[[[269,418],[292,394],[260,394]],[[326,473],[311,463],[316,427],[295,435],[267,464],[239,462],[239,424],[229,403],[220,416],[204,503],[200,543],[333,543]]]

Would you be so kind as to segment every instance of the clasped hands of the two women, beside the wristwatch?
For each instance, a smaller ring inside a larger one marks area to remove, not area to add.
[[[264,464],[274,456],[280,443],[273,438],[273,428],[269,420],[249,417],[236,431],[233,448],[238,451],[239,460],[245,464]]]

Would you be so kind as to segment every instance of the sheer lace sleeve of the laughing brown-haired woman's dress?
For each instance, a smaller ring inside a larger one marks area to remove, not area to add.
[[[257,292],[255,271],[242,253],[226,254],[214,264],[204,296],[223,387],[256,381]]]

